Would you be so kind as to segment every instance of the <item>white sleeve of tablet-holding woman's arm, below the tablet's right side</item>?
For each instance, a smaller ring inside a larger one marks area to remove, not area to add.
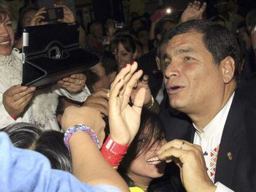
[[[61,88],[58,85],[53,85],[51,89],[53,90],[53,93],[56,93],[59,96],[66,96],[66,98],[79,102],[84,102],[85,99],[87,99],[87,97],[91,94],[86,85],[83,91],[81,91],[80,93],[69,93],[69,91]]]

